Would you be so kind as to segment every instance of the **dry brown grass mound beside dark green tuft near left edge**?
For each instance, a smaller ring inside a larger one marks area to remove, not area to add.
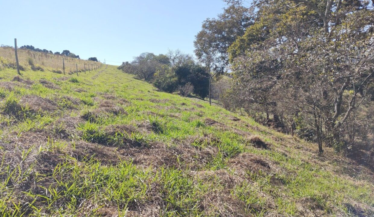
[[[56,102],[35,95],[22,96],[20,100],[22,107],[28,107],[31,112],[54,112],[58,105]]]

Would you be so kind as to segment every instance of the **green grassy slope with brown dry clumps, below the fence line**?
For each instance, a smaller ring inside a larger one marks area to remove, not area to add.
[[[374,216],[367,168],[116,66],[0,77],[2,216]]]

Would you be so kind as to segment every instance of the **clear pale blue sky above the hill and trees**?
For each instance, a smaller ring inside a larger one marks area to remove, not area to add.
[[[0,44],[33,45],[97,57],[120,65],[142,52],[180,49],[193,41],[206,18],[221,13],[221,0],[0,0]]]

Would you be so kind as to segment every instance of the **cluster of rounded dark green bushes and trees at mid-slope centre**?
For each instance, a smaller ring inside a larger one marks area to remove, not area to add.
[[[193,94],[202,99],[209,94],[209,71],[180,50],[170,50],[166,55],[142,53],[118,68],[137,75],[138,79],[148,81],[164,92],[179,91],[182,96]]]

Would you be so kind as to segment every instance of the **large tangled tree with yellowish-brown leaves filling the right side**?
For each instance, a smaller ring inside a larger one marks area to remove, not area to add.
[[[253,6],[254,24],[228,50],[233,93],[248,110],[260,106],[291,131],[309,125],[321,153],[323,142],[336,150],[353,144],[347,135],[355,124],[348,120],[363,121],[357,111],[371,105],[373,93],[373,10],[358,0]]]

